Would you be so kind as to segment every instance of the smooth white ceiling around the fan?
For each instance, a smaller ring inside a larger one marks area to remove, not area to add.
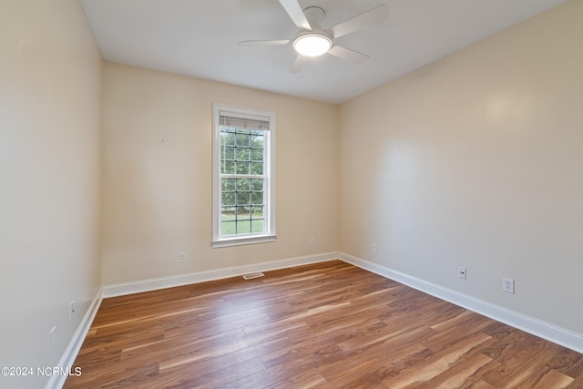
[[[341,103],[565,0],[300,0],[326,11],[322,27],[373,6],[388,18],[337,43],[371,59],[330,55],[289,69],[292,45],[241,46],[298,32],[278,0],[81,0],[107,61]]]

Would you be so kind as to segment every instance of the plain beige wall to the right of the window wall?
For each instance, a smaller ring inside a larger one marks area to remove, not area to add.
[[[583,333],[581,20],[569,1],[343,104],[341,250]]]

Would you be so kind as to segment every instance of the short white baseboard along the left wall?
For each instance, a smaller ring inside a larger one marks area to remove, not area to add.
[[[79,322],[79,326],[77,327],[77,331],[73,334],[73,338],[71,341],[66,345],[65,352],[61,356],[61,359],[58,362],[58,366],[60,368],[66,369],[71,368],[72,372],[76,366],[73,366],[75,363],[75,359],[77,358],[77,353],[81,349],[81,345],[85,341],[85,337],[87,336],[87,332],[91,327],[91,323],[93,319],[95,319],[95,315],[97,314],[97,310],[99,309],[99,305],[101,305],[103,298],[101,295],[101,290],[97,291],[97,294],[93,301],[89,304],[87,308],[87,312]],[[54,374],[51,375],[50,380],[46,384],[46,389],[57,389],[62,388],[65,384],[66,378],[68,375],[66,374]]]

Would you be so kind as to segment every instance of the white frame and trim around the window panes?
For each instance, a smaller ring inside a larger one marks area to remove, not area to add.
[[[261,234],[220,235],[221,198],[220,185],[220,116],[235,118],[252,118],[268,120],[270,129],[267,131],[265,146],[265,231]],[[275,241],[275,112],[237,107],[228,104],[213,103],[212,105],[213,137],[212,137],[212,247],[230,247],[242,244],[264,243]]]

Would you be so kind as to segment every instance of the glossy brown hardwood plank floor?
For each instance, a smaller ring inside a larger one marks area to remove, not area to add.
[[[103,301],[66,388],[583,388],[583,355],[343,261]]]

